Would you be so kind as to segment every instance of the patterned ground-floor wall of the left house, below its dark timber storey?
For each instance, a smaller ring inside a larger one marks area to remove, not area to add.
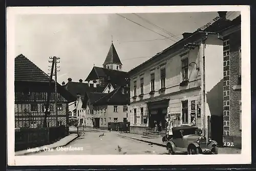
[[[37,103],[36,111],[31,110],[31,104],[15,104],[15,128],[29,128],[31,123],[36,123],[36,127],[42,127],[44,124],[44,103]],[[68,111],[67,103],[62,103],[62,110],[58,110],[58,121],[61,125],[67,125]],[[55,104],[51,104],[50,115],[47,116],[49,127],[56,126]]]

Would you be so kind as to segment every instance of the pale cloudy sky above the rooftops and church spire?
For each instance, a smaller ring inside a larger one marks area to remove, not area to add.
[[[238,15],[227,12],[227,19]],[[102,67],[112,40],[122,70],[129,71],[180,40],[182,33],[194,32],[217,16],[217,12],[19,14],[15,55],[23,54],[46,73],[49,57],[57,56],[57,82],[84,81],[94,65]]]

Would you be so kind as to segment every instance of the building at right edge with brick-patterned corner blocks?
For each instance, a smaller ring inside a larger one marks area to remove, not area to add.
[[[223,34],[223,139],[241,148],[241,16]]]

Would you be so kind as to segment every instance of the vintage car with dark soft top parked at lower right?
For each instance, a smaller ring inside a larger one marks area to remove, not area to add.
[[[166,141],[169,154],[218,154],[218,144],[201,135],[197,127],[179,126],[172,128],[173,136]]]

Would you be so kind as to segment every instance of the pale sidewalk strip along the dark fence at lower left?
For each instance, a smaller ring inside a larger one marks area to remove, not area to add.
[[[22,156],[22,155],[27,155],[27,154],[31,154],[31,153],[38,153],[41,151],[44,151],[44,148],[47,147],[47,149],[55,149],[58,146],[66,146],[68,145],[70,142],[72,142],[73,140],[75,140],[77,138],[77,134],[70,134],[62,139],[60,139],[57,142],[54,142],[52,144],[48,144],[48,145],[43,145],[43,146],[39,146],[36,148],[32,148],[29,150],[22,150],[22,151],[17,151],[15,152],[15,156]]]

